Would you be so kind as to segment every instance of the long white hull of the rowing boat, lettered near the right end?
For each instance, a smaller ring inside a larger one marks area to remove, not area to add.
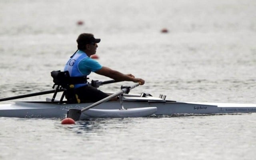
[[[123,94],[120,101],[108,101],[82,112],[80,118],[102,117],[102,114],[121,110],[122,107],[151,109],[146,116],[154,115],[189,115],[189,114],[233,114],[256,112],[256,104],[177,102],[165,100],[166,96],[153,97],[150,94]],[[82,109],[92,103],[59,104],[58,101],[17,101],[12,104],[0,104],[1,117],[20,118],[64,118],[70,108]],[[102,111],[102,112],[100,112]],[[133,115],[138,111],[131,112]]]

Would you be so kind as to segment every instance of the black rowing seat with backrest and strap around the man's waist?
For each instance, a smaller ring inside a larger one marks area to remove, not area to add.
[[[70,74],[68,71],[61,72],[60,70],[52,71],[51,76],[54,82],[54,85],[52,86],[52,88],[55,88],[55,86],[57,86],[51,100],[52,102],[54,102],[57,92],[60,92],[60,90],[63,90],[59,104],[63,103],[64,96],[66,97],[68,103],[80,103],[80,99],[78,98],[78,95],[75,94],[74,92],[74,84],[87,83],[87,80],[89,78],[87,78],[86,76],[70,77]]]

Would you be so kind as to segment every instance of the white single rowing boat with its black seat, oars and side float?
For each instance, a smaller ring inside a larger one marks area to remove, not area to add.
[[[130,89],[139,86],[121,86],[121,90],[116,93],[107,93],[110,96],[95,103],[65,103],[63,101],[68,90],[72,92],[71,82],[84,82],[84,77],[72,79],[68,72],[52,71],[55,90],[26,94],[2,98],[0,101],[38,96],[42,94],[54,93],[52,98],[40,102],[14,102],[13,104],[0,104],[1,117],[21,117],[21,118],[64,118],[69,117],[76,120],[88,117],[140,117],[154,115],[188,115],[188,114],[230,114],[230,113],[250,113],[256,112],[256,104],[224,104],[224,103],[199,103],[199,102],[177,102],[166,100],[166,96],[160,94],[159,97],[151,94],[128,94]],[[80,79],[79,79],[80,78]],[[87,79],[87,78],[86,78]],[[88,85],[98,88],[103,84],[115,83],[115,80],[94,81]],[[86,80],[87,83],[87,80]],[[74,85],[73,85],[74,86]],[[55,100],[57,92],[62,92],[60,100]],[[118,96],[119,101],[109,101]],[[73,101],[72,101],[73,102]],[[78,102],[78,101],[77,101]],[[93,109],[91,109],[93,108]]]

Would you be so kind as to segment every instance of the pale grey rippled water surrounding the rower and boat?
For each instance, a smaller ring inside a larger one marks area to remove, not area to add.
[[[50,72],[63,70],[77,36],[90,32],[102,40],[97,48],[102,65],[146,81],[131,93],[256,103],[255,9],[254,0],[1,0],[0,98],[51,90]],[[109,80],[96,74],[92,79]],[[100,89],[116,92],[129,84]],[[72,126],[60,121],[0,118],[0,160],[256,156],[254,113],[106,118]]]

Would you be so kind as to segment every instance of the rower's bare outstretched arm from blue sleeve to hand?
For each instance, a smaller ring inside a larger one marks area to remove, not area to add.
[[[112,78],[116,81],[132,81],[132,82],[139,82],[141,85],[145,83],[144,80],[141,78],[135,78],[132,74],[122,74],[116,70],[112,70],[108,67],[102,67],[100,70],[95,71],[95,73],[100,74],[102,76],[107,76]]]

